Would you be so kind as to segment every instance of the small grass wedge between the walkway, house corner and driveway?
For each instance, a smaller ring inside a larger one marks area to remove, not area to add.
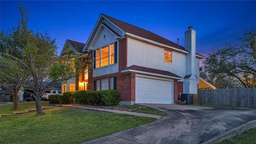
[[[163,111],[160,111],[158,109],[151,108],[151,107],[141,106],[141,105],[138,105],[138,104],[134,104],[134,105],[117,105],[117,106],[113,106],[113,107],[127,108],[127,109],[138,108],[138,109],[136,109],[136,112],[138,112],[138,113],[147,113],[147,114],[161,115],[161,116],[164,115]],[[141,108],[139,108],[139,107],[141,107]]]

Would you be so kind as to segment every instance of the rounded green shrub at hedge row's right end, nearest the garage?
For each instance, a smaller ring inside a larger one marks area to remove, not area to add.
[[[117,105],[119,102],[119,94],[116,90],[100,91],[103,106]]]

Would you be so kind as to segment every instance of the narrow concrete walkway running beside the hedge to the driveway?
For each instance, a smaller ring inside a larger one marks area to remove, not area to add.
[[[134,115],[134,116],[152,117],[152,118],[157,118],[157,119],[162,117],[159,115],[151,115],[151,114],[145,114],[145,113],[136,113],[136,112],[131,112],[131,111],[122,111],[122,110],[114,110],[114,109],[103,109],[103,108],[93,108],[93,107],[73,106],[73,105],[62,105],[62,106],[90,109],[90,110],[98,110],[98,111],[106,111],[106,112],[110,112],[110,113],[127,114],[127,115]]]

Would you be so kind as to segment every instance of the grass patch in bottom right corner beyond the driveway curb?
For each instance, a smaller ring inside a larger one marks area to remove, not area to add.
[[[250,129],[242,134],[239,134],[231,139],[224,140],[219,144],[252,144],[256,143],[256,128]]]

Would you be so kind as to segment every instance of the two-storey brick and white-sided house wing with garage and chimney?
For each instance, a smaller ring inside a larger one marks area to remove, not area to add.
[[[199,59],[204,57],[196,53],[192,27],[185,32],[183,47],[101,14],[83,53],[95,60],[86,79],[88,90],[116,89],[121,105],[171,104],[177,103],[181,93],[197,94]]]

